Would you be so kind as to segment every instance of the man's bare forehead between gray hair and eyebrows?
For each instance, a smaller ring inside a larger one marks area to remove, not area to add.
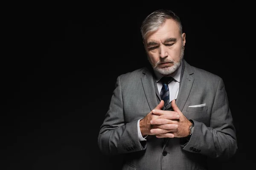
[[[180,29],[178,24],[174,20],[166,20],[166,22],[158,28],[157,31],[149,33],[146,37],[146,42],[158,42],[158,41],[165,41],[169,38],[176,38],[180,37]]]

